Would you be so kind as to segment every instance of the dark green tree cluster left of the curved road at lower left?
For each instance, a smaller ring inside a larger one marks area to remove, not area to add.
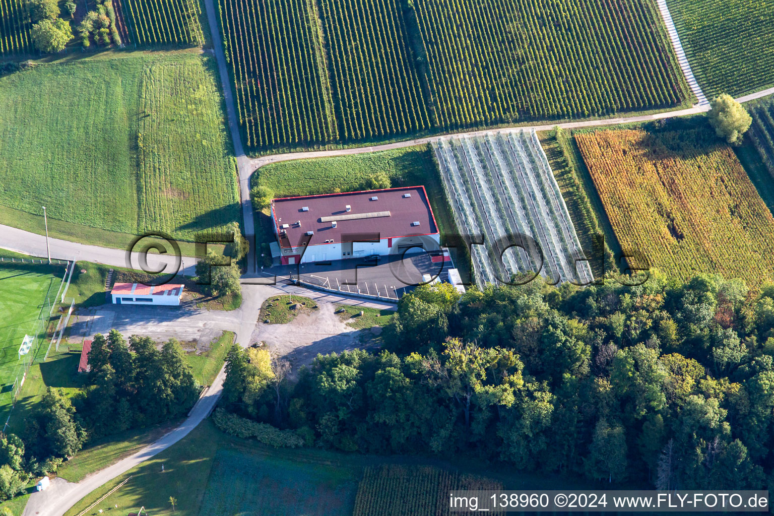
[[[181,417],[197,400],[199,387],[176,340],[159,350],[149,337],[133,335],[127,343],[111,330],[94,336],[89,364],[87,387],[72,397],[48,388],[21,438],[0,439],[0,500],[29,478],[56,472],[90,440]]]

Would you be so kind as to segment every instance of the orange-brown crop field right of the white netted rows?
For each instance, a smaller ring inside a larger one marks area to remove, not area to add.
[[[575,139],[625,253],[680,279],[719,272],[760,285],[774,275],[774,217],[733,150],[693,133]]]

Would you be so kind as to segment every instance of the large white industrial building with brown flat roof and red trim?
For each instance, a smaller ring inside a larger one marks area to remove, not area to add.
[[[427,251],[440,244],[424,186],[331,193],[272,200],[277,244],[284,265]],[[418,247],[419,246],[419,247]]]

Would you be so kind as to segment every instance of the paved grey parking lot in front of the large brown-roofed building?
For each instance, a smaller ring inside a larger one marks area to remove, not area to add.
[[[303,282],[341,292],[398,299],[403,293],[425,282],[423,278],[426,275],[430,275],[430,279],[447,279],[450,264],[450,261],[443,261],[442,256],[436,256],[433,261],[433,257],[426,253],[415,253],[405,256],[380,256],[378,261],[351,258],[300,265],[276,265],[264,269],[264,273],[277,275],[278,281],[300,277]]]

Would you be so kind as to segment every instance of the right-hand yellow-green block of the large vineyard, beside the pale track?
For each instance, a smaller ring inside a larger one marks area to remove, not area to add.
[[[417,0],[441,127],[667,108],[687,85],[646,0]]]

